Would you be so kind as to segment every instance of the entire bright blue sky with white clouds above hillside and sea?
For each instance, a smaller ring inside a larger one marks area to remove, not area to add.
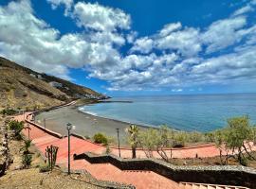
[[[256,93],[256,0],[0,0],[0,56],[111,96]]]

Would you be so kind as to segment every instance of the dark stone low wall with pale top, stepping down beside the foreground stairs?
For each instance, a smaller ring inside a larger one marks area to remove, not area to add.
[[[256,170],[245,166],[176,166],[155,159],[121,159],[113,155],[74,154],[74,160],[111,163],[121,170],[153,171],[174,181],[246,186],[256,189]]]

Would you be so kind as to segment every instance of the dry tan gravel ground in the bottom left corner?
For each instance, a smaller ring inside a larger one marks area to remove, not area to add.
[[[96,189],[102,188],[90,183],[86,183],[86,176],[67,176],[60,170],[49,173],[40,173],[38,168],[9,171],[0,178],[0,188],[3,189]]]

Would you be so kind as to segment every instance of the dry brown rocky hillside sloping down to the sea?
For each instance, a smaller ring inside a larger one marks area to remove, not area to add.
[[[31,110],[77,98],[105,97],[89,88],[34,72],[0,57],[0,110],[7,107]]]

